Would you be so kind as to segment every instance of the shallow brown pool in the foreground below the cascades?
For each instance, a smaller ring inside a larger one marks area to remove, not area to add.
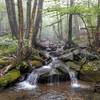
[[[80,81],[79,83],[91,85]],[[19,90],[12,87],[0,92],[0,100],[100,100],[100,94],[94,93],[92,88],[74,90],[70,82],[62,82],[59,85],[38,84],[33,90]]]

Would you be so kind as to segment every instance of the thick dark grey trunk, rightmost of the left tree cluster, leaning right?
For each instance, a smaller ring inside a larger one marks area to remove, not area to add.
[[[40,22],[42,20],[43,1],[44,0],[39,0],[38,4],[37,4],[37,12],[36,12],[36,19],[35,19],[35,30],[33,31],[33,39],[32,39],[32,44],[34,46],[36,46],[37,34],[38,34],[38,31],[39,31]]]

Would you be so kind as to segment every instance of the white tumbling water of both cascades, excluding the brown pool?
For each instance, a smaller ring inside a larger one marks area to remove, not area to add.
[[[20,82],[18,84],[18,89],[30,90],[36,88],[39,75],[42,75],[47,72],[50,75],[50,78],[48,80],[49,85],[53,85],[53,75],[56,74],[56,68],[59,67],[59,63],[61,62],[57,59],[57,57],[51,57],[51,58],[52,58],[52,62],[50,64],[33,70],[33,72],[28,76],[28,78],[25,81]],[[71,80],[71,87],[79,88],[80,84],[78,83],[75,72],[70,70],[70,67],[68,65],[63,64],[63,66],[65,67],[65,69],[67,69],[66,71],[68,71],[69,73],[70,80]],[[58,80],[59,80],[59,76],[58,76]]]

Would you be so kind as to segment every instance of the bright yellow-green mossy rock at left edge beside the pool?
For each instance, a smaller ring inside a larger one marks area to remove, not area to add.
[[[7,84],[18,79],[19,77],[20,77],[20,72],[16,69],[13,69],[4,76],[0,77],[0,86],[6,86]]]

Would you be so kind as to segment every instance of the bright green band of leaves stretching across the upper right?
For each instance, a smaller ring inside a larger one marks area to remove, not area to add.
[[[59,12],[60,15],[65,14],[82,14],[82,15],[98,15],[100,14],[100,7],[95,5],[93,7],[87,7],[85,5],[74,5],[72,7],[62,7],[60,5],[52,6],[45,9],[46,12]]]

